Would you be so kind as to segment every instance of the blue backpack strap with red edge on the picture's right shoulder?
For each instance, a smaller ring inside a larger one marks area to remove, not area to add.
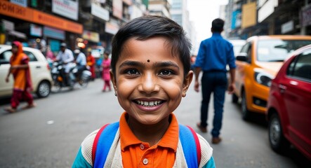
[[[187,167],[199,167],[201,162],[201,146],[197,133],[191,127],[179,125],[179,137]]]

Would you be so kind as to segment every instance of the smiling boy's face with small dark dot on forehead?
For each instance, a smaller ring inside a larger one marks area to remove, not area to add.
[[[192,71],[184,76],[183,63],[172,55],[163,37],[124,43],[116,74],[111,73],[119,104],[129,116],[145,125],[166,121],[185,97]]]

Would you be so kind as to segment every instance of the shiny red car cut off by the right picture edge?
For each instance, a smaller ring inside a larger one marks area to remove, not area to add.
[[[266,116],[274,151],[293,144],[311,160],[311,45],[292,52],[272,80]]]

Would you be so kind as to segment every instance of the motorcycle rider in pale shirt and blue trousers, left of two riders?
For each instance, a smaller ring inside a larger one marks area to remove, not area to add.
[[[60,51],[58,52],[58,55],[56,56],[57,61],[61,61],[64,68],[65,68],[65,83],[67,85],[70,85],[70,87],[73,86],[73,83],[70,80],[70,69],[72,66],[72,62],[74,62],[74,55],[72,54],[72,51],[67,49],[67,44],[66,43],[61,43],[60,44]]]

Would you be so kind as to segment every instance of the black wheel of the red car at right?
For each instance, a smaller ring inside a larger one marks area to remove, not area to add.
[[[289,141],[283,135],[281,121],[277,113],[273,113],[270,117],[268,133],[270,146],[273,151],[282,153],[289,148]]]

